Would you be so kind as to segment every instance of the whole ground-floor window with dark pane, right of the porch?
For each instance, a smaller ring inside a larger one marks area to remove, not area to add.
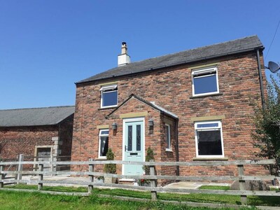
[[[221,121],[195,123],[197,157],[223,158],[223,132]]]

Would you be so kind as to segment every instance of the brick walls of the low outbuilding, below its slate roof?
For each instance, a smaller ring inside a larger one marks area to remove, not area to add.
[[[25,160],[34,160],[36,146],[51,146],[52,151],[61,151],[58,155],[71,155],[72,134],[73,115],[58,125],[0,127],[0,157],[16,159],[17,155],[24,154]],[[57,144],[53,139],[61,143]]]

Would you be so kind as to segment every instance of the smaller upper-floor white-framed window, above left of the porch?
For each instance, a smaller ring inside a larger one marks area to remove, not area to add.
[[[101,108],[118,106],[118,85],[103,86],[100,91]]]

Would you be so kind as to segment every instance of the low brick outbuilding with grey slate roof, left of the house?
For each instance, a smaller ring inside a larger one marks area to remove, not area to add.
[[[0,110],[0,157],[70,156],[74,111],[74,106]]]

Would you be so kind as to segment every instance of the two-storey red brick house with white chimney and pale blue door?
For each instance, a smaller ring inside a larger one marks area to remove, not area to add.
[[[130,62],[123,43],[118,66],[76,83],[71,158],[144,161],[247,160],[251,99],[263,99],[265,70],[258,36]],[[87,168],[80,167],[80,170]],[[137,166],[118,173],[142,174]],[[235,167],[157,167],[158,174],[235,175]],[[252,167],[246,173],[265,174]]]

